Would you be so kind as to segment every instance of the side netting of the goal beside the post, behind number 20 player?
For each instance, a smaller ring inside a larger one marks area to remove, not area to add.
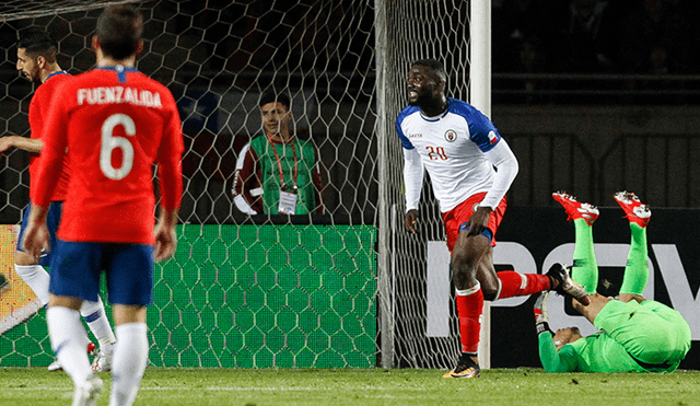
[[[435,58],[445,63],[448,74],[447,94],[468,100],[469,4],[465,1],[389,1],[387,4],[387,116],[396,117],[406,106],[406,74],[410,63],[421,58]],[[417,18],[420,16],[420,18]],[[393,34],[394,33],[394,34]],[[400,33],[400,34],[399,34]],[[419,207],[421,233],[402,231],[402,152],[395,139],[395,121],[387,124],[392,165],[389,195],[396,202],[397,231],[392,262],[397,269],[396,290],[396,362],[401,367],[452,368],[459,353],[456,314],[451,314],[448,337],[428,337],[427,257],[428,241],[444,241],[444,229],[432,189],[427,184]],[[427,176],[428,177],[428,176]],[[428,269],[428,272],[431,270]],[[451,301],[452,303],[452,301]],[[452,305],[451,305],[452,308]]]

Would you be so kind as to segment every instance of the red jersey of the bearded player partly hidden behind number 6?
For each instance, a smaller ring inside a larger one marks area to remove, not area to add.
[[[44,129],[44,121],[48,116],[48,107],[51,103],[51,96],[56,91],[56,86],[65,79],[70,78],[70,74],[65,70],[56,73],[51,73],[44,83],[42,83],[34,92],[32,96],[32,103],[30,103],[30,128],[32,129],[31,137],[33,139],[39,139]],[[40,154],[30,154],[30,199],[34,200],[36,189],[37,172],[39,170]],[[63,163],[62,170],[58,176],[58,185],[54,189],[51,201],[60,201],[66,199],[66,192],[68,190],[68,178],[70,174],[70,166],[68,162]]]

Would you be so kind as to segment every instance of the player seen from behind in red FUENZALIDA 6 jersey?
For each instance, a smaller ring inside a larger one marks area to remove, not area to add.
[[[92,44],[97,67],[61,83],[43,134],[36,210],[24,244],[38,255],[46,243],[46,212],[68,149],[72,174],[51,263],[47,322],[51,347],[75,384],[73,405],[94,404],[102,390],[80,351],[77,312],[83,300],[96,298],[102,269],[117,335],[109,404],[131,405],[148,363],[153,260],[171,257],[177,245],[180,120],[171,92],[135,69],[141,31],[132,5],[108,7],[100,15]],[[154,164],[161,192],[155,230]]]

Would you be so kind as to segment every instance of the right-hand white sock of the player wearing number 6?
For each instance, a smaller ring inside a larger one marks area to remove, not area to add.
[[[131,405],[139,393],[141,378],[149,361],[145,323],[127,323],[115,327],[117,343],[112,358],[109,406]]]

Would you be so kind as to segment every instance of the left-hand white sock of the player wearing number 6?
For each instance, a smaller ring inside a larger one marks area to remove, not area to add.
[[[86,333],[80,313],[68,308],[50,306],[46,311],[46,323],[58,362],[75,385],[81,385],[92,375],[92,368],[85,351]]]

